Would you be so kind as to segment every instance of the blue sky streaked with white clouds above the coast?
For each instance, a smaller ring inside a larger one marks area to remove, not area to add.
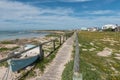
[[[120,24],[120,0],[0,0],[0,30]]]

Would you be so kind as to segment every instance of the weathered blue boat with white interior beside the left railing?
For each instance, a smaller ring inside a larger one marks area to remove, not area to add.
[[[25,46],[25,50],[35,45],[27,45]],[[19,71],[32,63],[34,63],[39,58],[39,48],[34,48],[26,53],[23,53],[19,58],[12,58],[8,60],[8,64],[10,66],[10,70],[12,72]]]

